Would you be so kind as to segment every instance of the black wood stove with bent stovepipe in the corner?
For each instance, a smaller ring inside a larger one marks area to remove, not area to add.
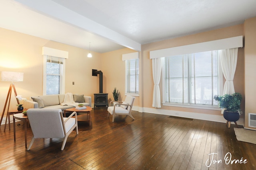
[[[103,93],[102,71],[92,69],[92,76],[100,75],[100,93],[94,93],[94,107],[108,107],[108,93]]]

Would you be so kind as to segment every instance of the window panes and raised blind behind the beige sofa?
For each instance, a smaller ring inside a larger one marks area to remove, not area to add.
[[[47,56],[46,60],[46,94],[60,94],[63,62],[65,59]]]

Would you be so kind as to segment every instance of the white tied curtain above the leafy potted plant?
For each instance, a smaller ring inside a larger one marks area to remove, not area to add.
[[[223,75],[226,82],[223,88],[223,94],[234,94],[234,74],[236,72],[238,48],[219,50],[220,62]]]

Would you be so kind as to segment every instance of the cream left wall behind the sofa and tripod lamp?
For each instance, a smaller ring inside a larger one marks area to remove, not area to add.
[[[93,57],[86,57],[88,50],[46,39],[0,28],[0,72],[24,72],[24,81],[15,82],[18,95],[29,99],[30,96],[42,95],[43,57],[42,47],[68,51],[66,59],[65,92],[84,94],[92,97],[99,92],[98,78],[92,76],[92,69],[101,69],[100,53],[92,52]],[[75,85],[72,85],[75,82]],[[95,85],[97,84],[97,85]],[[10,82],[0,81],[0,111],[4,108]],[[17,109],[12,91],[10,109]]]

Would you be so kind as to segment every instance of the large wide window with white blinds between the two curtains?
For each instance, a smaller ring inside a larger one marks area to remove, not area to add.
[[[218,106],[218,51],[165,57],[164,103]]]

